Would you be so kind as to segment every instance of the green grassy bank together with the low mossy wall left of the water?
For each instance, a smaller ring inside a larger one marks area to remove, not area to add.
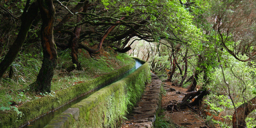
[[[11,121],[15,122],[11,127],[17,127],[22,124],[22,122],[48,112],[52,108],[56,108],[68,100],[109,81],[109,79],[131,69],[134,65],[134,61],[128,55],[116,53],[111,49],[108,50],[108,52],[102,50],[100,54],[95,57],[98,61],[92,59],[84,50],[79,52],[79,61],[81,62],[83,70],[74,70],[71,72],[66,71],[66,68],[72,65],[69,55],[70,51],[59,52],[58,65],[52,80],[51,94],[38,94],[30,92],[27,88],[29,84],[36,80],[36,74],[41,67],[40,58],[37,59],[38,61],[34,61],[33,59],[31,61],[25,61],[24,59],[23,61],[18,61],[16,59],[15,63],[23,64],[23,66],[20,66],[20,71],[17,72],[17,75],[13,79],[4,79],[1,81],[0,107],[5,107],[4,105],[8,106],[10,103],[14,103],[13,105],[17,107],[22,105],[18,108],[26,117],[23,116],[21,117],[22,119],[16,121],[16,118],[13,118],[17,116],[15,112],[0,111],[1,124],[10,123]],[[24,54],[20,54],[20,56],[24,57]],[[27,58],[30,58],[33,55],[28,54],[28,56]],[[31,68],[31,71],[29,71],[28,68],[24,68],[25,65],[28,66],[29,69]],[[23,69],[23,71],[21,71],[21,69]],[[33,100],[33,102],[31,102],[31,100]],[[35,108],[35,106],[39,107]]]

